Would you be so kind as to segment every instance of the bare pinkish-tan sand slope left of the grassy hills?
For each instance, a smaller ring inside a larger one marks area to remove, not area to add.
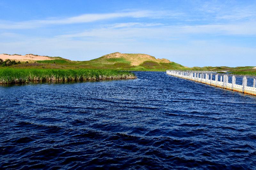
[[[5,55],[0,54],[0,58],[3,60],[10,59],[10,60],[16,60],[16,61],[31,61],[31,60],[54,60],[52,57],[46,57],[41,55]]]

